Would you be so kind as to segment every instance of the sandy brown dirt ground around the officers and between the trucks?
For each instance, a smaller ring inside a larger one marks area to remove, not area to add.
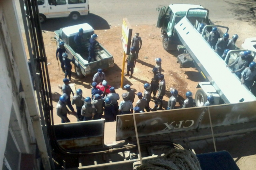
[[[217,22],[216,24],[228,26],[230,28],[229,33],[232,36],[234,33],[239,34],[239,39],[237,44],[241,47],[242,41],[247,37],[253,36],[253,27],[247,26],[245,24],[238,24],[235,22]],[[165,101],[163,103],[163,108],[167,108],[167,101],[170,97],[169,89],[175,87],[179,91],[179,95],[185,98],[185,93],[187,90],[193,92],[195,95],[198,82],[204,81],[201,74],[196,68],[180,68],[177,64],[176,56],[179,55],[178,51],[167,52],[162,47],[162,38],[160,36],[160,29],[157,29],[155,25],[142,25],[142,26],[132,26],[133,33],[140,33],[142,38],[142,48],[139,52],[139,61],[136,63],[134,68],[134,74],[132,79],[125,77],[124,85],[130,84],[131,88],[134,88],[136,94],[137,92],[143,92],[143,84],[151,82],[153,78],[152,69],[155,66],[155,58],[160,57],[162,59],[162,73],[165,75],[166,80],[166,95],[163,98]],[[235,28],[235,29],[232,29]],[[121,46],[121,29],[120,26],[113,26],[109,30],[95,30],[98,34],[98,41],[104,48],[106,48],[113,56],[115,66],[105,71],[106,80],[109,85],[114,86],[117,90],[116,92],[121,96],[125,90],[120,88],[121,72],[122,72],[122,58],[123,50]],[[245,34],[242,31],[246,31]],[[64,78],[64,73],[58,71],[58,62],[55,57],[56,52],[56,41],[51,39],[54,37],[54,33],[51,31],[43,31],[44,45],[47,56],[48,71],[51,81],[52,93],[53,93],[53,106],[54,106],[54,122],[60,123],[60,118],[56,115],[56,105],[59,96],[62,94],[61,90],[58,88],[59,84],[63,84],[62,79]],[[214,66],[214,65],[213,65]],[[126,71],[126,67],[125,67]],[[91,86],[92,76],[78,79],[74,73],[74,67],[72,69],[72,81],[75,85],[75,89],[81,88],[83,90],[83,96],[91,96]],[[133,105],[136,104],[138,97],[136,96]],[[122,99],[119,100],[119,102]],[[150,102],[150,106],[153,107],[154,103]],[[68,116],[71,121],[76,121],[74,116]]]

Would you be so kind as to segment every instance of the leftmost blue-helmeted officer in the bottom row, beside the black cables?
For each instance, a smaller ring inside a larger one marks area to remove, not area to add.
[[[67,109],[66,105],[67,105],[66,97],[63,95],[60,96],[56,109],[57,109],[57,115],[61,118],[61,123],[70,122],[69,118],[67,117],[67,113],[69,113],[69,110]]]

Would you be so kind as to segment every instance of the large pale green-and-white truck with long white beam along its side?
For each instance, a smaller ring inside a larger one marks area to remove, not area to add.
[[[206,41],[212,27],[216,26],[208,18],[207,9],[200,5],[171,4],[158,7],[157,10],[157,27],[161,28],[163,48],[173,50],[182,43],[205,79],[205,82],[198,83],[197,88],[201,88],[195,95],[196,106],[203,106],[207,94],[214,96],[215,104],[256,100],[252,92],[241,85],[240,79],[226,67],[227,63],[233,61],[238,53],[244,50],[229,51],[223,61]],[[202,34],[197,31],[200,23],[207,24]],[[217,27],[226,28],[228,32],[227,27]],[[253,55],[255,56],[254,52]]]

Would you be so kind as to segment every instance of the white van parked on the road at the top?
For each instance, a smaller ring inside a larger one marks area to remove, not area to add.
[[[81,15],[89,14],[88,0],[37,0],[39,20],[46,18],[70,17],[77,20]]]

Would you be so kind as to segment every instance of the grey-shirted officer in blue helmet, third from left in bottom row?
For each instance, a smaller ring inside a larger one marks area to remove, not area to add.
[[[96,111],[93,105],[91,104],[91,98],[86,97],[84,100],[84,105],[82,107],[81,115],[84,116],[84,121],[91,120]]]

